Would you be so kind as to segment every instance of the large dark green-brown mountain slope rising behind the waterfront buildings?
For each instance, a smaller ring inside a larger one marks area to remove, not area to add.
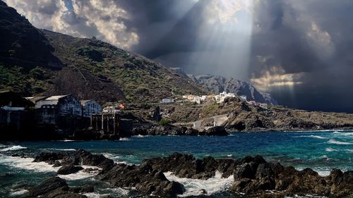
[[[160,101],[206,89],[175,70],[95,38],[39,30],[0,1],[0,89],[97,101]]]

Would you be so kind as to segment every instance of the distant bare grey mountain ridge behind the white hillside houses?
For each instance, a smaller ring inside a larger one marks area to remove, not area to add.
[[[203,87],[207,87],[210,92],[219,94],[220,92],[231,92],[239,96],[245,95],[248,101],[254,100],[261,103],[278,105],[278,102],[268,93],[259,92],[248,82],[234,78],[225,78],[220,75],[188,75],[193,81]]]

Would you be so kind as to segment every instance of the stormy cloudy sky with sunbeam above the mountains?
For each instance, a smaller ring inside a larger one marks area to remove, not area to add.
[[[246,80],[284,106],[353,113],[351,0],[5,2],[35,27]]]

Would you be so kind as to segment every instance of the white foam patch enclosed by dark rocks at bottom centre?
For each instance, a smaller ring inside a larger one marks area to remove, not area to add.
[[[229,178],[222,178],[222,174],[219,171],[216,171],[215,176],[213,178],[209,178],[208,180],[178,178],[172,172],[164,173],[164,175],[168,180],[177,181],[184,185],[186,192],[179,195],[179,197],[202,195],[202,190],[206,190],[208,195],[214,194],[216,192],[227,190],[227,188],[234,182],[233,175],[230,175]]]

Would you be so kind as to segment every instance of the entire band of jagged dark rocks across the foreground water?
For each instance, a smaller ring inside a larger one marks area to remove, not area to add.
[[[179,178],[208,180],[216,172],[222,178],[234,178],[228,191],[256,197],[285,197],[316,194],[325,197],[352,197],[353,171],[343,173],[334,169],[328,176],[320,176],[311,168],[297,171],[292,166],[265,161],[262,156],[240,159],[196,159],[192,155],[174,153],[164,158],[144,160],[139,166],[114,163],[101,154],[78,151],[41,153],[34,162],[44,161],[59,167],[58,176],[31,187],[29,197],[85,197],[83,192],[94,192],[94,187],[68,187],[60,175],[78,171],[98,171],[95,178],[114,187],[134,189],[141,195],[177,197],[186,189],[177,181],[168,180],[164,173],[172,172]],[[96,166],[86,168],[81,166]],[[208,192],[203,192],[207,194]]]

